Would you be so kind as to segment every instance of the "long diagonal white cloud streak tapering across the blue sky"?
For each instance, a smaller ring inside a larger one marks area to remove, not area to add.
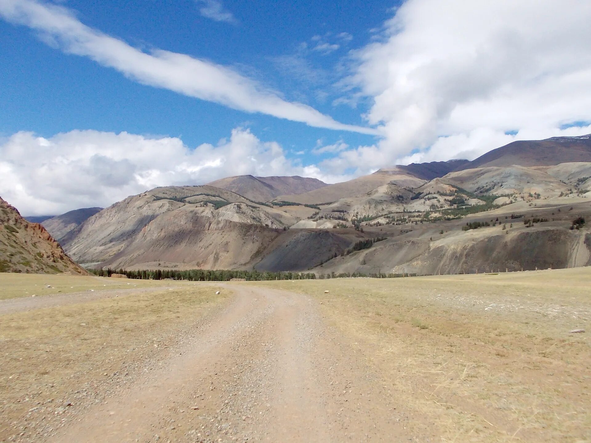
[[[39,32],[64,53],[89,57],[138,83],[316,128],[377,134],[373,128],[346,125],[311,106],[287,102],[262,84],[211,61],[157,48],[141,51],[86,26],[63,6],[37,0],[0,0],[0,16]]]

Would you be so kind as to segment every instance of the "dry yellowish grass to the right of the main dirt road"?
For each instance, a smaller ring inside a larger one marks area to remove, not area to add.
[[[591,441],[591,268],[256,284],[322,301],[417,434]]]

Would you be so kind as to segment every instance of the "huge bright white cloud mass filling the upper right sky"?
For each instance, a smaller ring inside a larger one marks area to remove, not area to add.
[[[385,138],[333,165],[379,168],[413,152],[423,161],[475,157],[586,126],[590,22],[588,1],[405,1],[353,54],[348,78],[372,100],[366,119]]]

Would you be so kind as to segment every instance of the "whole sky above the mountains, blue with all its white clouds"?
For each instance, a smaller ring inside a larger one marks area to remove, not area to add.
[[[0,0],[0,196],[55,214],[589,133],[590,21],[579,0]]]

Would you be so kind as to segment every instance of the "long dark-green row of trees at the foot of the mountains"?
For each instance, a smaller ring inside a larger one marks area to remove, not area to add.
[[[156,269],[142,271],[127,271],[125,269],[89,269],[90,272],[100,277],[110,277],[112,274],[123,274],[127,278],[144,280],[163,280],[173,278],[177,280],[219,282],[229,281],[233,278],[243,278],[246,281],[262,280],[307,280],[307,279],[325,279],[325,278],[343,278],[343,277],[372,277],[372,278],[395,278],[403,276],[414,276],[416,274],[394,274],[394,273],[372,273],[370,275],[361,272],[342,272],[322,274],[317,276],[313,272],[259,272],[259,271],[228,271],[227,269],[190,269],[188,271],[175,271],[174,269]]]

